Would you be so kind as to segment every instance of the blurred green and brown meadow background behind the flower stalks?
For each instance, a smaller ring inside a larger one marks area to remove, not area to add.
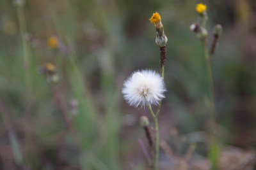
[[[133,71],[160,72],[156,11],[168,37],[160,169],[209,169],[205,59],[189,30],[197,3],[209,45],[223,26],[211,61],[219,169],[255,169],[254,0],[1,0],[0,169],[147,169],[139,120],[150,115],[121,90]]]

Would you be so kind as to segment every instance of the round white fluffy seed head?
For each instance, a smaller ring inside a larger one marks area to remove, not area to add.
[[[159,104],[159,101],[164,98],[163,78],[160,74],[151,70],[136,71],[124,82],[122,93],[124,99],[131,106],[145,107],[148,104],[151,106]]]

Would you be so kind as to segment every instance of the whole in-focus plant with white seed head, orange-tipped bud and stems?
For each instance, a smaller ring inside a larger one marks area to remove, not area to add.
[[[122,93],[124,94],[124,99],[131,106],[136,108],[138,106],[143,108],[148,106],[148,110],[150,111],[155,124],[154,130],[156,132],[156,141],[154,149],[151,134],[148,129],[149,122],[147,117],[142,117],[140,123],[145,129],[150,150],[152,150],[152,153],[154,153],[154,156],[152,156],[154,157],[154,170],[157,170],[159,159],[159,127],[157,116],[160,112],[161,100],[164,98],[164,92],[166,91],[164,87],[164,65],[166,62],[166,46],[168,39],[164,34],[164,27],[161,23],[161,16],[159,13],[154,13],[149,20],[150,22],[154,23],[156,27],[156,44],[159,46],[160,51],[161,75],[151,70],[136,71],[132,73],[131,76],[124,82]],[[158,105],[156,114],[152,110],[152,105]]]

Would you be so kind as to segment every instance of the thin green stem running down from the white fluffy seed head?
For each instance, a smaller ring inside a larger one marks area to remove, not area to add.
[[[154,170],[158,169],[158,158],[159,158],[159,131],[158,131],[158,122],[157,117],[154,114],[154,111],[152,110],[151,106],[148,104],[148,109],[150,110],[150,113],[154,119],[155,122],[155,130],[156,130],[156,155],[155,155],[155,162],[154,162]]]

